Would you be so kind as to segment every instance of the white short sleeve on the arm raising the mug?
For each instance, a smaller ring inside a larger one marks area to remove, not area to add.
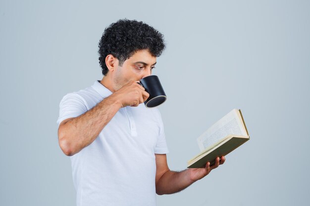
[[[57,124],[68,118],[78,117],[87,112],[84,99],[77,93],[66,94],[59,103],[59,117]]]

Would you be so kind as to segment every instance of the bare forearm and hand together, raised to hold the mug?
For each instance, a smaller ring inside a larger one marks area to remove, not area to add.
[[[140,81],[128,82],[84,114],[62,121],[58,141],[63,153],[72,156],[91,144],[119,107],[137,107],[146,101],[150,95],[137,82]]]

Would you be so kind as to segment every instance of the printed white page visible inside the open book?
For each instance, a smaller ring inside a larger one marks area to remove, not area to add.
[[[201,152],[227,135],[235,134],[248,136],[238,113],[238,110],[233,109],[198,137],[197,141]]]

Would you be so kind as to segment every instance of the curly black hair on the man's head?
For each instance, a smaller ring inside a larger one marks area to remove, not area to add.
[[[105,57],[112,54],[122,66],[136,51],[149,49],[153,56],[160,56],[165,48],[163,35],[153,27],[137,20],[120,19],[108,26],[99,41],[99,63],[105,76],[108,69]]]

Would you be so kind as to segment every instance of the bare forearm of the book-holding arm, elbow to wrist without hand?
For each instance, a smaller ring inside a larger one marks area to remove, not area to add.
[[[191,179],[188,169],[183,171],[167,171],[156,184],[156,193],[158,195],[172,194],[184,190],[195,181]]]

